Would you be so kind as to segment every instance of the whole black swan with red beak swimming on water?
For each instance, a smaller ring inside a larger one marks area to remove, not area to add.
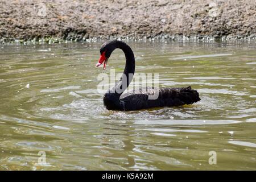
[[[104,95],[103,101],[106,109],[128,111],[150,107],[180,106],[200,101],[199,93],[192,90],[191,86],[187,88],[146,88],[134,90],[133,93],[122,94],[129,86],[135,72],[135,59],[130,46],[119,40],[104,43],[100,48],[101,56],[96,67],[104,63],[103,69],[105,69],[111,53],[116,48],[122,49],[125,53],[126,64],[120,80]],[[149,99],[156,93],[158,93],[156,99]]]

